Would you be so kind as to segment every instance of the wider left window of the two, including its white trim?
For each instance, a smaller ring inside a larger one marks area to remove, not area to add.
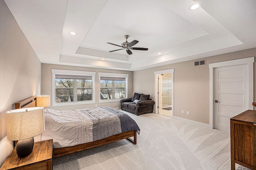
[[[52,69],[53,106],[95,103],[95,72]]]

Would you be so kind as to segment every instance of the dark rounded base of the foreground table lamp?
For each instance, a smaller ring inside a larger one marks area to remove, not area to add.
[[[18,140],[16,146],[17,155],[25,157],[31,154],[34,147],[34,137]]]

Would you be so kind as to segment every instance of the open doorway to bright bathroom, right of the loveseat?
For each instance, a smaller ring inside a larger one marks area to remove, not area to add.
[[[155,71],[156,113],[171,117],[173,112],[174,69]]]

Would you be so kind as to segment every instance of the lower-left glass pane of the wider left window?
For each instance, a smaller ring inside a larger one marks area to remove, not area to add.
[[[56,103],[74,101],[73,89],[56,89]]]

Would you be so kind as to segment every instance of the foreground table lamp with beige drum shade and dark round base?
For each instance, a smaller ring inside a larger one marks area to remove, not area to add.
[[[43,107],[29,107],[6,112],[7,139],[18,140],[18,156],[28,156],[34,147],[34,136],[44,132],[43,110]]]

